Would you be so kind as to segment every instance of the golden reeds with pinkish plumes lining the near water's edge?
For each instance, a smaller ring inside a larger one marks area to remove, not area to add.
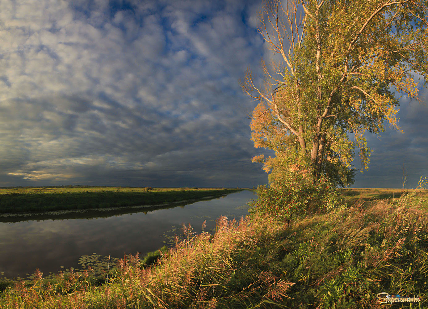
[[[204,226],[202,226],[202,229]],[[217,232],[194,236],[190,226],[152,268],[137,256],[119,261],[104,285],[88,273],[71,273],[7,288],[0,308],[251,308],[270,307],[286,297],[293,283],[269,270],[275,250],[266,250],[284,224],[268,217],[220,217]]]

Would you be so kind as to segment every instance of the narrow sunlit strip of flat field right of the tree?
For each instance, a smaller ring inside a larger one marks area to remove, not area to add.
[[[404,189],[384,189],[384,188],[352,188],[342,189],[340,198],[343,199],[348,205],[353,205],[358,199],[366,203],[373,203],[379,199],[389,199],[396,202],[401,194],[407,194],[414,190]],[[421,207],[428,209],[428,190],[417,190],[416,199],[413,204],[418,204]]]

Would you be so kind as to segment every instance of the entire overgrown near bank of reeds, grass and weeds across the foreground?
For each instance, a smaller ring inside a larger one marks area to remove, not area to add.
[[[152,267],[132,256],[104,281],[36,273],[7,287],[0,308],[378,308],[380,292],[419,295],[394,307],[425,308],[428,216],[415,199],[360,200],[291,226],[220,217],[214,235],[184,227]]]

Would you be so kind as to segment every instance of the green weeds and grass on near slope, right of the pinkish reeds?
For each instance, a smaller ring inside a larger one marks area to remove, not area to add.
[[[428,215],[414,205],[417,192],[298,220],[271,262],[296,282],[284,305],[373,308],[380,291],[427,295]]]

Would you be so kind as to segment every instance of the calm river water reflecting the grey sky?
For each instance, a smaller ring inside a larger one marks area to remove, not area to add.
[[[26,278],[37,267],[48,274],[65,268],[79,268],[80,256],[96,253],[123,257],[124,253],[143,254],[164,244],[172,245],[181,234],[181,224],[190,223],[194,232],[212,231],[215,219],[246,216],[247,202],[256,199],[252,191],[231,193],[217,199],[191,202],[185,206],[135,212],[91,219],[27,220],[0,223],[0,273]],[[140,255],[140,256],[142,256]]]

